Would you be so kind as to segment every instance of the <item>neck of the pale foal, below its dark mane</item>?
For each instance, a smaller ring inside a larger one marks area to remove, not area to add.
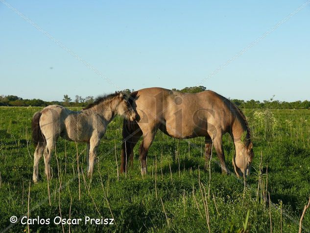
[[[90,109],[95,111],[98,115],[103,117],[108,123],[110,123],[113,118],[116,116],[116,106],[115,100],[106,100]]]

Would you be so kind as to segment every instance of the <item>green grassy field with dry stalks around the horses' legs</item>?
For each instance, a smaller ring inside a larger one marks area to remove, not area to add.
[[[298,232],[310,195],[310,110],[244,110],[255,153],[244,185],[243,179],[220,173],[215,152],[210,179],[203,170],[203,138],[177,140],[162,132],[149,151],[148,175],[140,174],[138,146],[133,168],[118,175],[120,118],[101,141],[92,180],[85,177],[86,144],[60,139],[53,179],[48,184],[42,158],[40,181],[34,184],[30,123],[39,109],[0,107],[1,230],[27,231],[21,219],[11,224],[10,217],[23,217],[29,208],[29,218],[50,221],[30,224],[30,232]],[[223,140],[233,171],[233,144],[228,135]],[[54,224],[60,216],[81,221]],[[88,217],[114,218],[114,224],[85,223]],[[310,232],[309,210],[303,227]]]

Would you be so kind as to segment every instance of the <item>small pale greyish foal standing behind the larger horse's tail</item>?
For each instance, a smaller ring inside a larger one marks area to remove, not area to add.
[[[96,149],[113,118],[120,116],[133,121],[135,111],[122,92],[98,97],[94,104],[81,111],[71,111],[60,105],[49,105],[32,118],[32,140],[36,146],[33,181],[39,180],[39,160],[44,155],[45,174],[51,178],[50,159],[59,136],[70,141],[87,143],[87,175],[93,174]]]

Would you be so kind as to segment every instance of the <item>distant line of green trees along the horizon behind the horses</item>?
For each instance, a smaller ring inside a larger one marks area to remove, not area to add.
[[[173,88],[174,91],[180,91],[183,93],[198,93],[201,91],[205,91],[206,87],[204,86],[193,86],[193,87],[185,87],[181,90]],[[125,89],[123,92],[129,94],[134,90]],[[310,109],[310,101],[295,101],[295,102],[281,102],[278,100],[274,100],[271,98],[270,100],[264,100],[263,102],[255,101],[255,100],[231,100],[234,104],[236,104],[240,108],[272,108],[272,109]],[[62,106],[78,106],[85,107],[88,104],[92,104],[94,102],[93,96],[87,96],[85,98],[76,95],[74,100],[68,95],[64,95],[63,101],[43,101],[40,99],[23,99],[18,96],[8,95],[3,96],[0,95],[0,106],[48,106],[50,104],[58,104]]]

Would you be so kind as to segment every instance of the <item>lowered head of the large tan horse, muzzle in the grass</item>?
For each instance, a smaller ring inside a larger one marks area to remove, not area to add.
[[[244,176],[250,175],[253,157],[253,143],[251,141],[245,143],[240,141],[236,143],[236,154],[233,157],[233,165],[237,177],[243,177],[243,174]]]

